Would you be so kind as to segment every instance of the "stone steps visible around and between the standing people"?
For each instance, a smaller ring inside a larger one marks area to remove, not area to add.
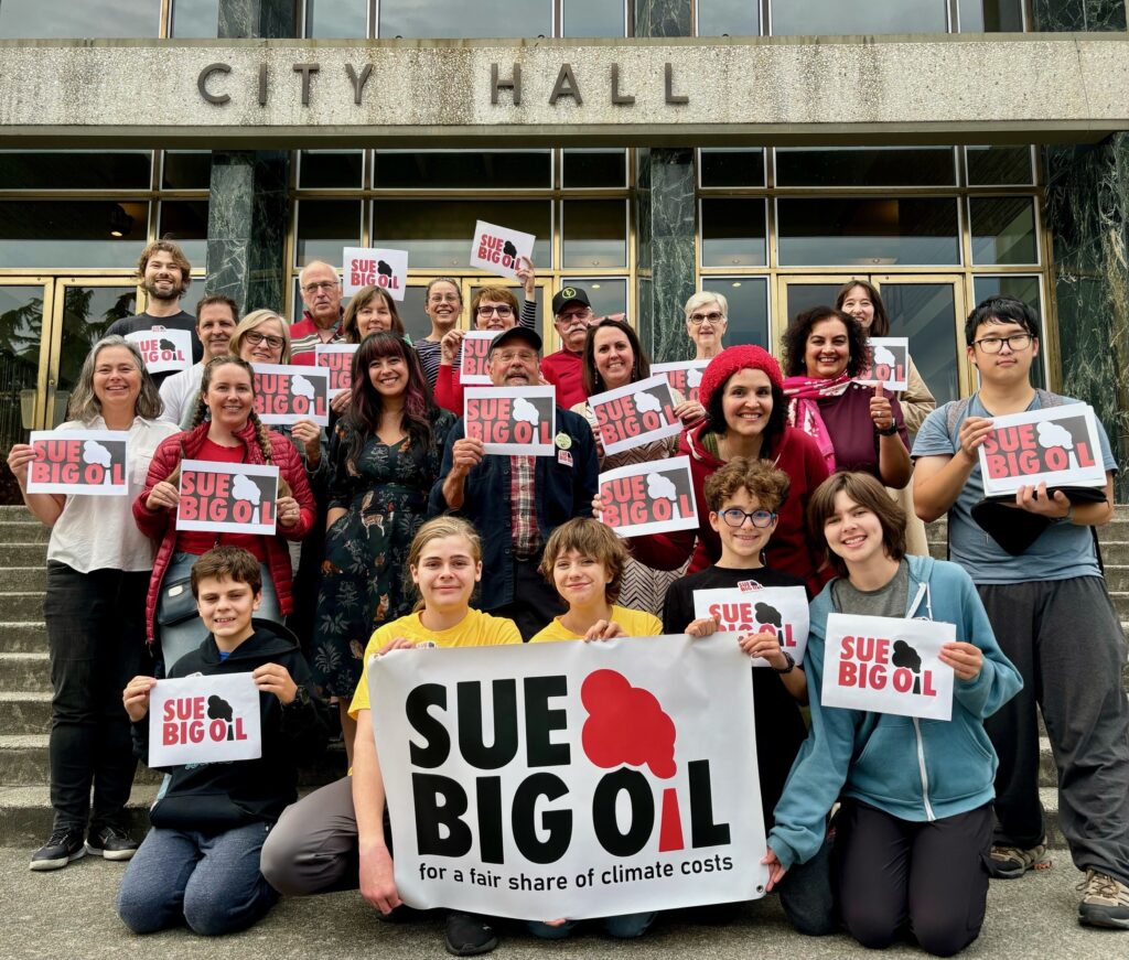
[[[47,729],[51,719],[51,671],[47,661],[43,596],[49,531],[21,507],[0,507],[0,846],[33,848],[51,830],[47,795]],[[1102,532],[1105,578],[1122,625],[1129,626],[1129,507],[1118,507]],[[945,525],[929,530],[935,556],[945,556]],[[1129,689],[1129,668],[1123,673]],[[1058,829],[1058,799],[1050,743],[1041,742],[1040,789],[1048,811],[1052,846],[1064,846]],[[340,746],[303,772],[308,790],[344,772]],[[139,766],[130,799],[130,816],[139,835],[157,792],[158,775]]]

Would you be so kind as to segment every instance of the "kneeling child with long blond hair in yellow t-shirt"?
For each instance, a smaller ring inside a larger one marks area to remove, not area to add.
[[[482,579],[482,546],[465,520],[437,517],[420,527],[408,553],[408,569],[420,602],[415,613],[373,634],[349,707],[357,721],[352,775],[288,808],[263,846],[263,875],[281,893],[300,896],[359,886],[361,896],[382,914],[401,905],[386,835],[384,780],[373,739],[369,658],[423,642],[437,646],[522,642],[513,620],[470,608],[474,584]],[[498,943],[482,917],[462,913],[447,915],[446,936],[447,950],[462,957],[485,953]]]

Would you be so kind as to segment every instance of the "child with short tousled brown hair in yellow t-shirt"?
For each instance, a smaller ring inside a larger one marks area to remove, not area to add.
[[[623,541],[598,520],[577,517],[553,530],[541,572],[568,613],[553,617],[530,643],[659,636],[663,623],[654,614],[615,606],[628,557]]]

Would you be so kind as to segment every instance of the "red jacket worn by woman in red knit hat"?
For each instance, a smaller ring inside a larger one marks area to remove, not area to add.
[[[631,541],[631,553],[636,560],[656,570],[677,570],[693,554],[689,573],[697,573],[721,556],[721,538],[709,523],[709,505],[706,503],[706,481],[725,460],[715,457],[702,444],[702,433],[708,424],[692,426],[682,433],[679,453],[690,457],[690,472],[694,482],[694,500],[698,504],[697,530],[676,530],[671,534],[653,534],[636,537]],[[765,563],[773,570],[782,570],[804,579],[808,592],[815,597],[832,575],[830,567],[822,571],[822,552],[813,549],[807,530],[807,501],[812,493],[828,478],[828,466],[820,448],[803,431],[791,426],[784,429],[778,444],[776,465],[791,478],[788,497],[780,507],[780,519],[776,532],[765,549]],[[820,531],[822,532],[822,531]],[[697,540],[697,547],[695,547]]]

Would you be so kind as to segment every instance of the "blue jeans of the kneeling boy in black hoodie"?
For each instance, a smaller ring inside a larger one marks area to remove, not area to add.
[[[248,824],[204,834],[155,827],[122,878],[117,915],[134,933],[181,923],[202,936],[245,930],[279,898],[259,872],[269,829]]]

